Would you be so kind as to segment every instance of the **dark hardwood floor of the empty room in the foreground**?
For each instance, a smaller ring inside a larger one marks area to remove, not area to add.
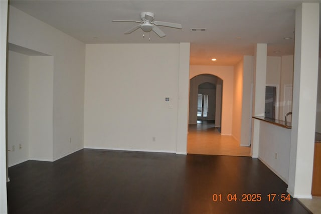
[[[269,202],[267,194],[287,194],[287,186],[250,157],[83,149],[21,163],[9,175],[9,213],[311,213],[293,198]]]

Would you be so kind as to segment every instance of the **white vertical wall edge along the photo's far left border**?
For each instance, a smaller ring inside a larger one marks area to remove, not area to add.
[[[6,70],[8,1],[0,1],[0,213],[7,209]]]

